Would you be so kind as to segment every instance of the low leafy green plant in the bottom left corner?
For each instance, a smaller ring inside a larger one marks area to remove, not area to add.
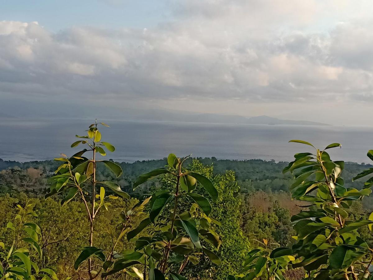
[[[25,208],[17,205],[19,213],[15,224],[7,223],[6,227],[15,234],[12,245],[0,242],[0,279],[46,279],[58,280],[53,267],[40,269],[37,262],[43,253],[38,243],[41,234],[40,227],[27,222],[27,217],[37,217],[32,210],[32,204],[26,202]]]

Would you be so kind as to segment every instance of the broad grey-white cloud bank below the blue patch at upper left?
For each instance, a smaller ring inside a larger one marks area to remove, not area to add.
[[[2,21],[0,95],[113,106],[372,102],[372,9],[351,3],[170,1],[174,19],[147,29],[55,33]]]

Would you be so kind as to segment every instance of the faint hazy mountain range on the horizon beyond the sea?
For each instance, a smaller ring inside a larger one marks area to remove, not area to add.
[[[180,122],[210,122],[222,124],[286,124],[286,125],[327,125],[320,122],[293,121],[272,118],[269,116],[245,117],[239,115],[220,115],[211,113],[196,113],[171,109],[117,108],[100,106],[43,106],[30,102],[29,104],[0,104],[0,118],[12,118],[17,108],[17,118],[69,118],[69,119],[116,119],[116,120],[151,120]]]

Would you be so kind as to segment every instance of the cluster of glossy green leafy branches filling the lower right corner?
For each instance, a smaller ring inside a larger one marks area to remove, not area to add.
[[[290,142],[314,147],[302,140]],[[346,211],[354,200],[370,195],[372,178],[360,190],[345,188],[340,177],[344,162],[332,161],[326,152],[327,149],[340,146],[339,143],[333,143],[324,150],[314,147],[315,153],[297,153],[295,160],[283,170],[284,173],[294,174],[295,182],[290,188],[292,197],[310,202],[307,207],[312,207],[312,210],[292,216],[296,233],[293,237],[296,242],[292,248],[277,248],[270,256],[278,259],[294,255],[294,260],[289,259],[288,268],[304,268],[305,279],[373,279],[370,269],[373,250],[355,232],[357,228],[364,226],[369,226],[372,230],[373,221],[348,220]],[[368,153],[371,159],[372,155],[373,153]],[[370,173],[373,171],[364,171],[355,179]],[[249,256],[249,260],[254,261],[254,257],[255,255]],[[236,276],[235,279],[262,277],[269,261],[257,259],[248,267],[251,269],[248,274]],[[282,262],[276,262],[275,265],[274,270],[281,271],[284,268]],[[266,279],[284,279],[281,274],[267,273],[265,276]]]

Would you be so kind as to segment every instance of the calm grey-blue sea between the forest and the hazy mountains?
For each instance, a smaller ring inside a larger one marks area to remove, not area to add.
[[[370,162],[373,127],[246,125],[159,121],[109,121],[100,128],[103,141],[116,147],[106,158],[115,161],[161,159],[169,153],[182,157],[218,159],[264,159],[291,161],[294,153],[312,151],[309,146],[288,143],[301,139],[323,148],[338,142],[342,148],[329,150],[333,160]],[[60,153],[72,155],[75,134],[85,135],[89,120],[12,119],[0,122],[0,158],[12,161],[48,160]],[[79,146],[80,147],[80,146]]]

